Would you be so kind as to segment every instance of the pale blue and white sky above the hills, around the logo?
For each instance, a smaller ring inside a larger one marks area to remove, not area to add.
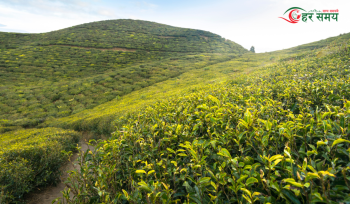
[[[338,21],[291,24],[291,7],[339,10]],[[218,34],[270,52],[350,32],[350,0],[0,0],[0,31],[43,33],[82,23],[138,19]]]

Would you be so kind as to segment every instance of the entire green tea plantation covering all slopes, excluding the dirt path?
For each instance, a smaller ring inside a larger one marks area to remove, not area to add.
[[[135,20],[0,32],[0,203],[349,203],[350,34],[269,53]],[[74,196],[69,196],[73,194]]]

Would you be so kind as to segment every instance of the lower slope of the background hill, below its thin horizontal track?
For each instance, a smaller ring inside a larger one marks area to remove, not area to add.
[[[67,47],[29,47],[3,53],[0,119],[13,121],[7,126],[24,127],[36,126],[48,117],[78,113],[186,71],[236,57],[100,50],[86,54],[85,49]],[[24,59],[16,61],[22,55]],[[30,61],[36,58],[40,62]]]

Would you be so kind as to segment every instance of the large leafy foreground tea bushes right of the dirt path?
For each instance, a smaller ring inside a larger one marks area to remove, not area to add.
[[[117,119],[80,158],[67,201],[348,202],[350,50],[335,50]]]

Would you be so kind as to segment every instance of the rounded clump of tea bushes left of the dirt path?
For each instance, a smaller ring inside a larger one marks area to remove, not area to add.
[[[0,134],[0,203],[18,201],[34,187],[55,184],[80,134],[59,128]]]

